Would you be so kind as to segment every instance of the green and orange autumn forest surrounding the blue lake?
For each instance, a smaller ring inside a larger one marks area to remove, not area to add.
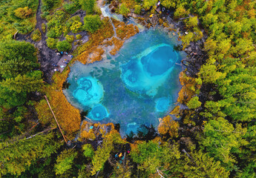
[[[177,106],[158,128],[142,125],[146,133],[125,138],[119,124],[80,125],[87,112],[62,93],[70,69],[49,77],[40,59],[43,40],[49,50],[72,49],[71,64],[89,64],[102,59],[103,45],[115,55],[139,33],[102,18],[99,3],[0,1],[0,177],[256,177],[256,1],[162,0],[160,13],[158,0],[105,2],[147,28],[177,32],[166,19],[180,22],[177,50],[202,42],[203,55],[183,62]]]

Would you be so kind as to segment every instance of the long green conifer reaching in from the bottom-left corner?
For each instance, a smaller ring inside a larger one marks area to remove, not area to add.
[[[47,158],[61,146],[54,140],[53,133],[38,134],[12,142],[0,142],[0,175],[19,176],[32,162]]]

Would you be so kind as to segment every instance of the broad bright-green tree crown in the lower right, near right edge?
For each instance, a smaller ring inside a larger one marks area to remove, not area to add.
[[[239,154],[240,147],[247,145],[243,136],[246,129],[237,124],[233,127],[226,119],[219,117],[209,120],[203,130],[204,136],[200,141],[201,147],[205,148],[209,156],[223,162],[227,169],[232,169],[236,158],[232,154]]]

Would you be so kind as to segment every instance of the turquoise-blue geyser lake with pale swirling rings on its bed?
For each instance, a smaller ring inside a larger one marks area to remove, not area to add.
[[[181,86],[180,60],[173,49],[177,37],[164,30],[145,30],[125,42],[116,56],[70,67],[68,101],[88,118],[119,123],[120,133],[137,132],[140,125],[157,128],[177,101]]]

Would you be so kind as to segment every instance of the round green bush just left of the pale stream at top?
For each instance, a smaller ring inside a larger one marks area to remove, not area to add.
[[[85,30],[90,33],[94,33],[102,25],[102,21],[98,15],[85,16],[84,23]]]

